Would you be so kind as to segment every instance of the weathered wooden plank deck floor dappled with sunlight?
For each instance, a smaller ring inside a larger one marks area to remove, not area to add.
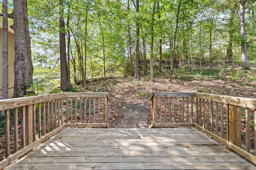
[[[8,170],[255,170],[195,128],[64,129]]]

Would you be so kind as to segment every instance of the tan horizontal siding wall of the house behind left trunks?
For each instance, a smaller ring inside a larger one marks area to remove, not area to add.
[[[2,96],[2,28],[0,28],[0,96]],[[9,90],[8,96],[9,98],[13,97],[14,92],[14,34],[8,33],[8,78],[9,78]]]

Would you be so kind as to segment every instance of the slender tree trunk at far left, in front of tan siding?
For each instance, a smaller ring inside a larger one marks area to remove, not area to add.
[[[8,0],[3,0],[2,99],[8,99]],[[4,113],[4,112],[3,112]]]

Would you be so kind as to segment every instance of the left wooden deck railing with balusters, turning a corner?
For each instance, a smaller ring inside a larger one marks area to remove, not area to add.
[[[107,92],[0,100],[0,111],[5,113],[2,142],[6,155],[0,169],[65,127],[108,127],[108,100]]]

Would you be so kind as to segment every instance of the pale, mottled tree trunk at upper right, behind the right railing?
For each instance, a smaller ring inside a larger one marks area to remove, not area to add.
[[[242,52],[242,67],[249,70],[248,57],[246,51],[246,34],[245,34],[245,9],[244,1],[240,0],[240,26],[241,26],[241,52]]]

